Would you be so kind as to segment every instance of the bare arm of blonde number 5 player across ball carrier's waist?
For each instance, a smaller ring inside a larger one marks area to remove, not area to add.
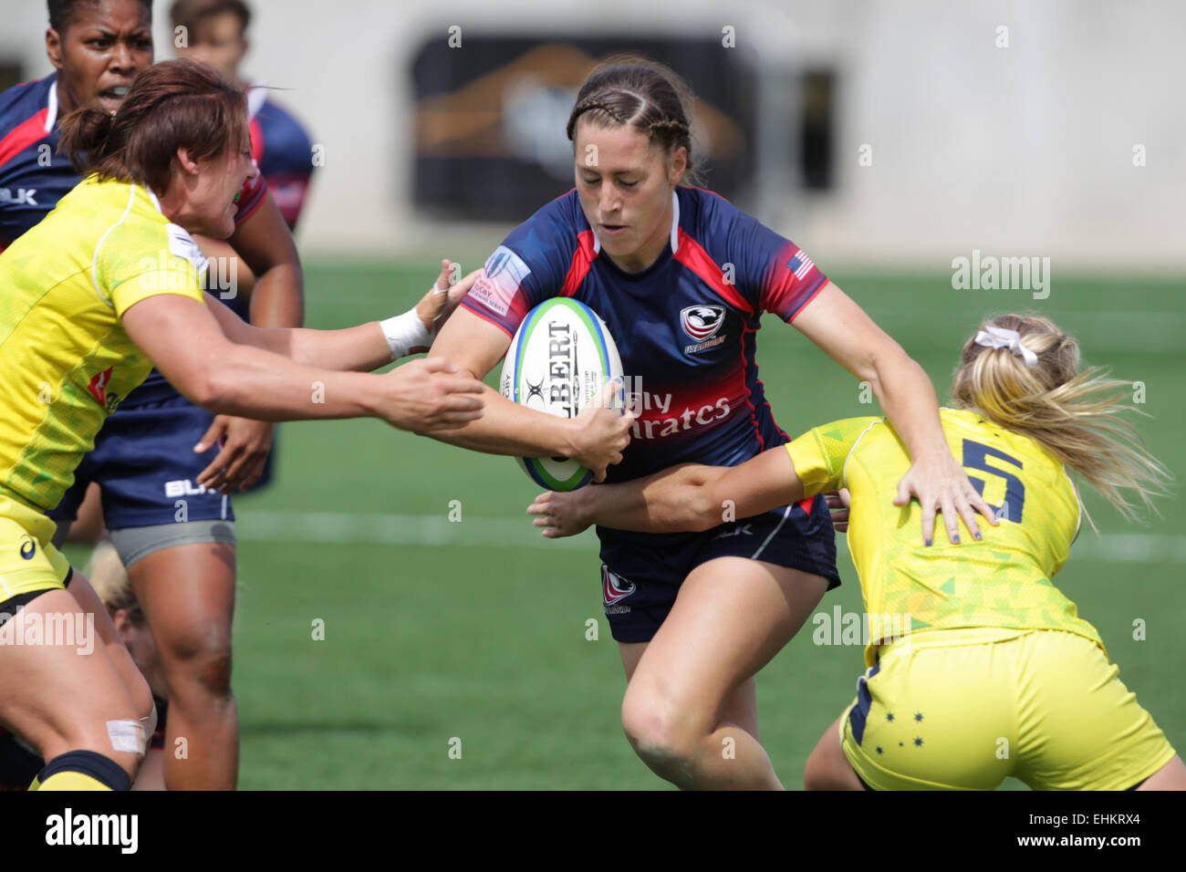
[[[803,498],[803,482],[786,448],[770,448],[740,466],[672,466],[623,484],[548,491],[528,514],[548,539],[572,536],[589,524],[640,533],[708,530]]]

